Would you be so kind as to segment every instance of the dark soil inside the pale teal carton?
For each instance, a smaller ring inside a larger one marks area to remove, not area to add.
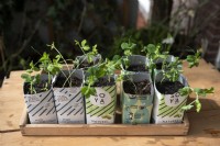
[[[132,82],[128,80],[123,82],[123,90],[125,93],[131,94],[150,94],[151,82],[148,80],[143,80],[140,82]]]

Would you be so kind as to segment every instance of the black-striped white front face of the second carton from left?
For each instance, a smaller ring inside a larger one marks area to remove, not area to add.
[[[80,88],[54,88],[54,98],[58,123],[85,123]]]

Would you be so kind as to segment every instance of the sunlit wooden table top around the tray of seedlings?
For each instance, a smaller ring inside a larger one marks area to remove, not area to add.
[[[191,87],[215,87],[215,93],[201,99],[200,113],[188,111],[187,136],[22,136],[19,130],[24,108],[24,71],[12,71],[0,88],[0,146],[146,146],[146,145],[220,145],[220,72],[205,60],[197,68],[184,66]],[[191,96],[190,99],[193,99]]]

